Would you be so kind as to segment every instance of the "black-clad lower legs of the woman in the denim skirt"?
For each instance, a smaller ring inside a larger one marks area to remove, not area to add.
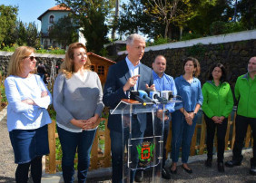
[[[38,156],[32,161],[24,164],[18,164],[15,171],[15,180],[17,183],[27,183],[28,170],[31,166],[31,177],[34,183],[40,183],[42,177],[42,156]]]

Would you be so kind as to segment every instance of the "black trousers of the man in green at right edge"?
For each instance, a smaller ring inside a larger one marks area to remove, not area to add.
[[[243,159],[241,155],[241,149],[243,147],[244,138],[248,125],[251,125],[252,137],[253,137],[253,158],[251,163],[256,166],[256,118],[248,118],[237,115],[235,120],[235,142],[233,148],[234,160],[241,161]]]

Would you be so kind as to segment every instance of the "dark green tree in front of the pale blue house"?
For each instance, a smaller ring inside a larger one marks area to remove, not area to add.
[[[72,17],[70,15],[64,16],[51,27],[49,37],[64,45],[65,48],[70,43],[77,41],[77,29],[78,27],[74,25],[74,20]]]

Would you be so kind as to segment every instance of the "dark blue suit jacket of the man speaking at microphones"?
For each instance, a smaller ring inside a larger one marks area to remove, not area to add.
[[[146,84],[151,86],[153,84],[152,69],[144,65],[139,66],[139,83],[138,90],[145,90]],[[125,60],[113,64],[108,71],[107,80],[103,90],[103,103],[105,106],[113,110],[121,99],[128,99],[123,86],[131,78],[127,63]],[[140,130],[143,132],[146,128],[146,114],[138,114],[137,119],[140,124]],[[108,117],[109,130],[122,132],[122,119],[120,114],[109,114]]]

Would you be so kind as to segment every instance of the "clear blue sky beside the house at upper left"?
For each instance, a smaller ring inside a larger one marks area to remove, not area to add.
[[[127,0],[122,0],[125,2]],[[34,22],[41,30],[41,21],[37,18],[44,12],[56,5],[54,0],[0,0],[0,5],[16,5],[19,6],[17,20],[24,23]]]

